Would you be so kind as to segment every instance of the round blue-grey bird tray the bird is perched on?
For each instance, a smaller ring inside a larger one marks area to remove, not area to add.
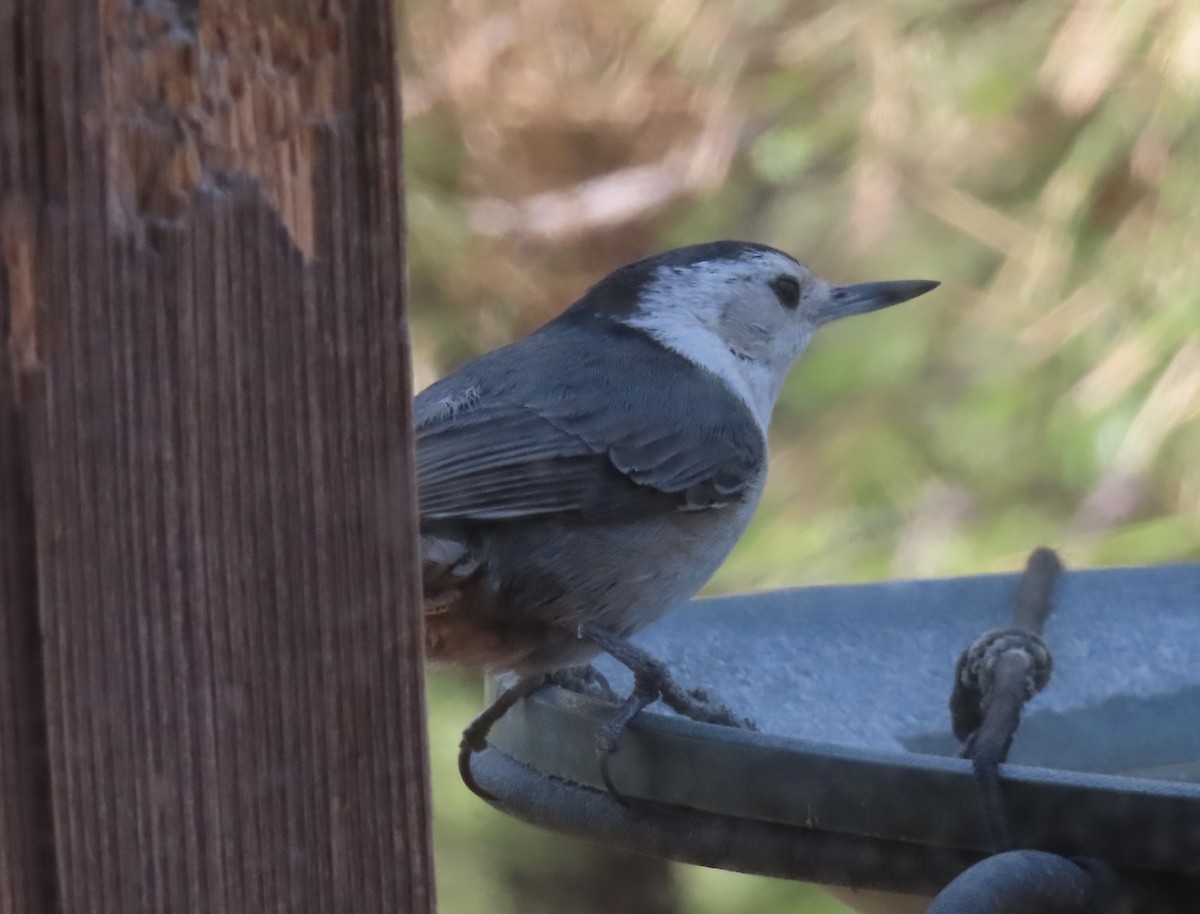
[[[994,849],[947,698],[955,661],[1008,619],[1019,576],[692,601],[635,638],[757,732],[654,705],[611,759],[611,704],[544,688],[474,774],[512,816],[674,860],[934,895]],[[1103,861],[1134,894],[1200,898],[1200,566],[1073,571],[1001,786],[1013,842]],[[617,691],[623,668],[600,662]],[[1181,888],[1182,886],[1182,888]],[[1182,892],[1182,895],[1180,895]],[[1164,902],[1156,910],[1174,910]]]

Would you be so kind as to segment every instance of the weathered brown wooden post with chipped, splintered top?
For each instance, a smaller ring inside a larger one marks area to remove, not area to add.
[[[432,909],[392,16],[0,0],[4,914]]]

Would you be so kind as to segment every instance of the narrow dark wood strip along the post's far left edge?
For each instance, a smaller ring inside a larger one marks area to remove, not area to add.
[[[29,421],[36,389],[37,138],[31,23],[0,0],[0,914],[56,910]]]

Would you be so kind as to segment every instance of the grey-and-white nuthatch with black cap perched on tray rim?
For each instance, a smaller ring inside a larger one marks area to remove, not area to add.
[[[607,757],[656,698],[751,726],[630,637],[695,595],[745,531],[772,411],[812,335],[937,285],[835,285],[766,245],[690,245],[617,269],[418,393],[426,657],[518,677],[464,730],[468,787],[496,799],[470,774],[487,730],[546,681],[595,685],[581,665],[600,653],[635,683],[598,734],[618,799]]]

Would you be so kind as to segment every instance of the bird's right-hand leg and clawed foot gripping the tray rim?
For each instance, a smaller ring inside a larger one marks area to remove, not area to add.
[[[580,638],[590,641],[596,647],[604,649],[613,660],[628,667],[634,674],[634,691],[622,704],[616,715],[596,734],[596,753],[600,757],[600,775],[604,778],[608,793],[618,802],[625,804],[625,799],[617,790],[608,774],[608,758],[617,751],[617,740],[629,726],[630,721],[638,712],[652,704],[655,699],[662,702],[677,714],[703,723],[719,723],[727,727],[739,727],[742,729],[757,729],[755,722],[748,717],[739,717],[721,702],[710,698],[703,690],[686,690],[671,677],[666,666],[652,657],[641,648],[613,635],[605,629],[592,623],[583,623],[575,626],[575,632]]]

